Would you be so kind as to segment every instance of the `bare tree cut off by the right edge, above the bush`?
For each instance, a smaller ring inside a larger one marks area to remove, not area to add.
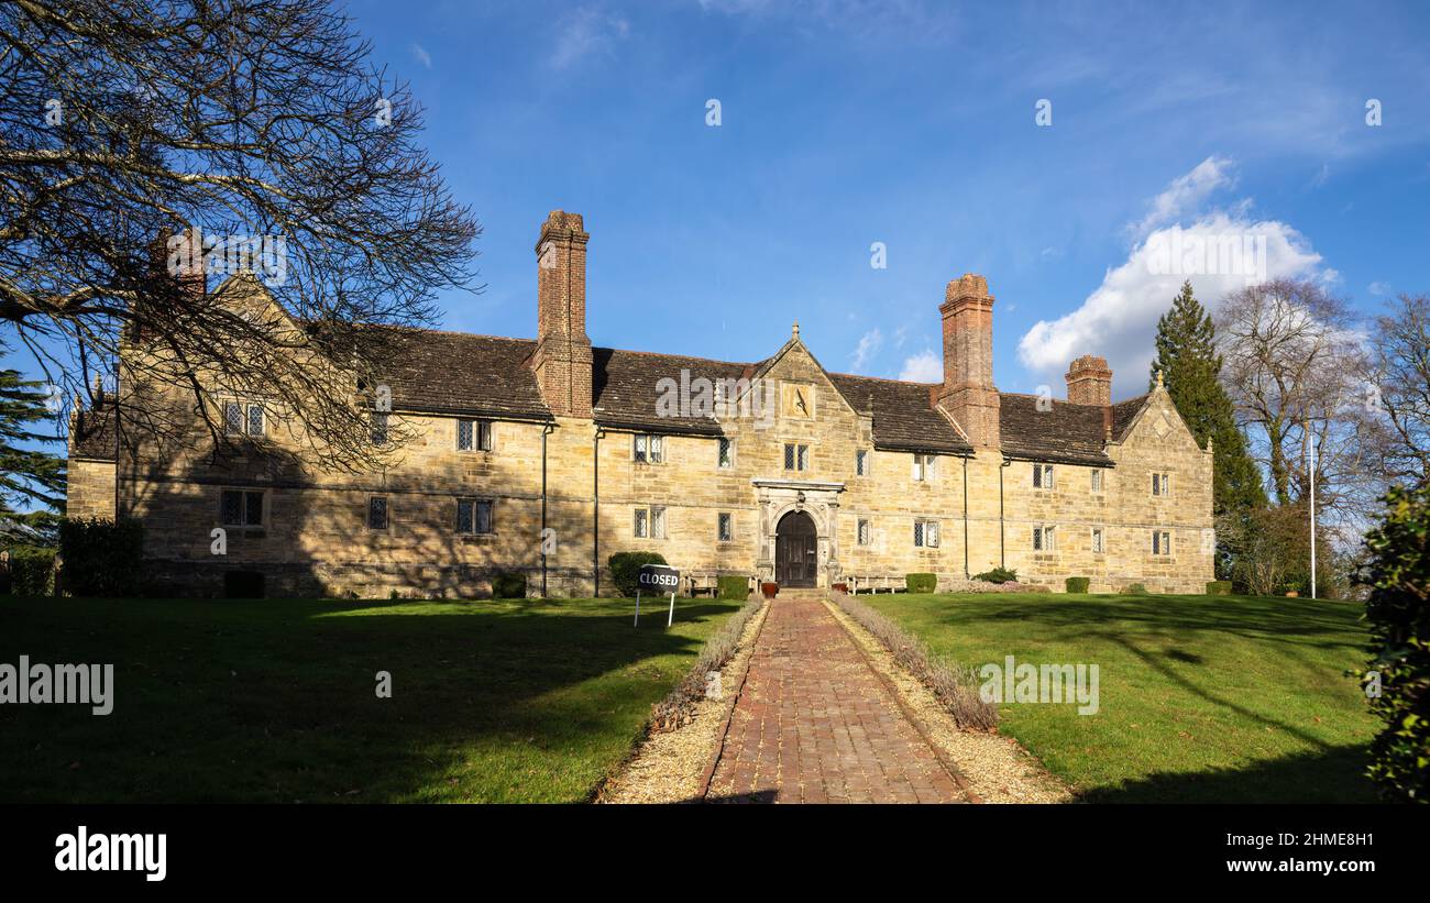
[[[1376,319],[1366,360],[1370,459],[1389,483],[1430,482],[1430,297],[1401,294]]]

